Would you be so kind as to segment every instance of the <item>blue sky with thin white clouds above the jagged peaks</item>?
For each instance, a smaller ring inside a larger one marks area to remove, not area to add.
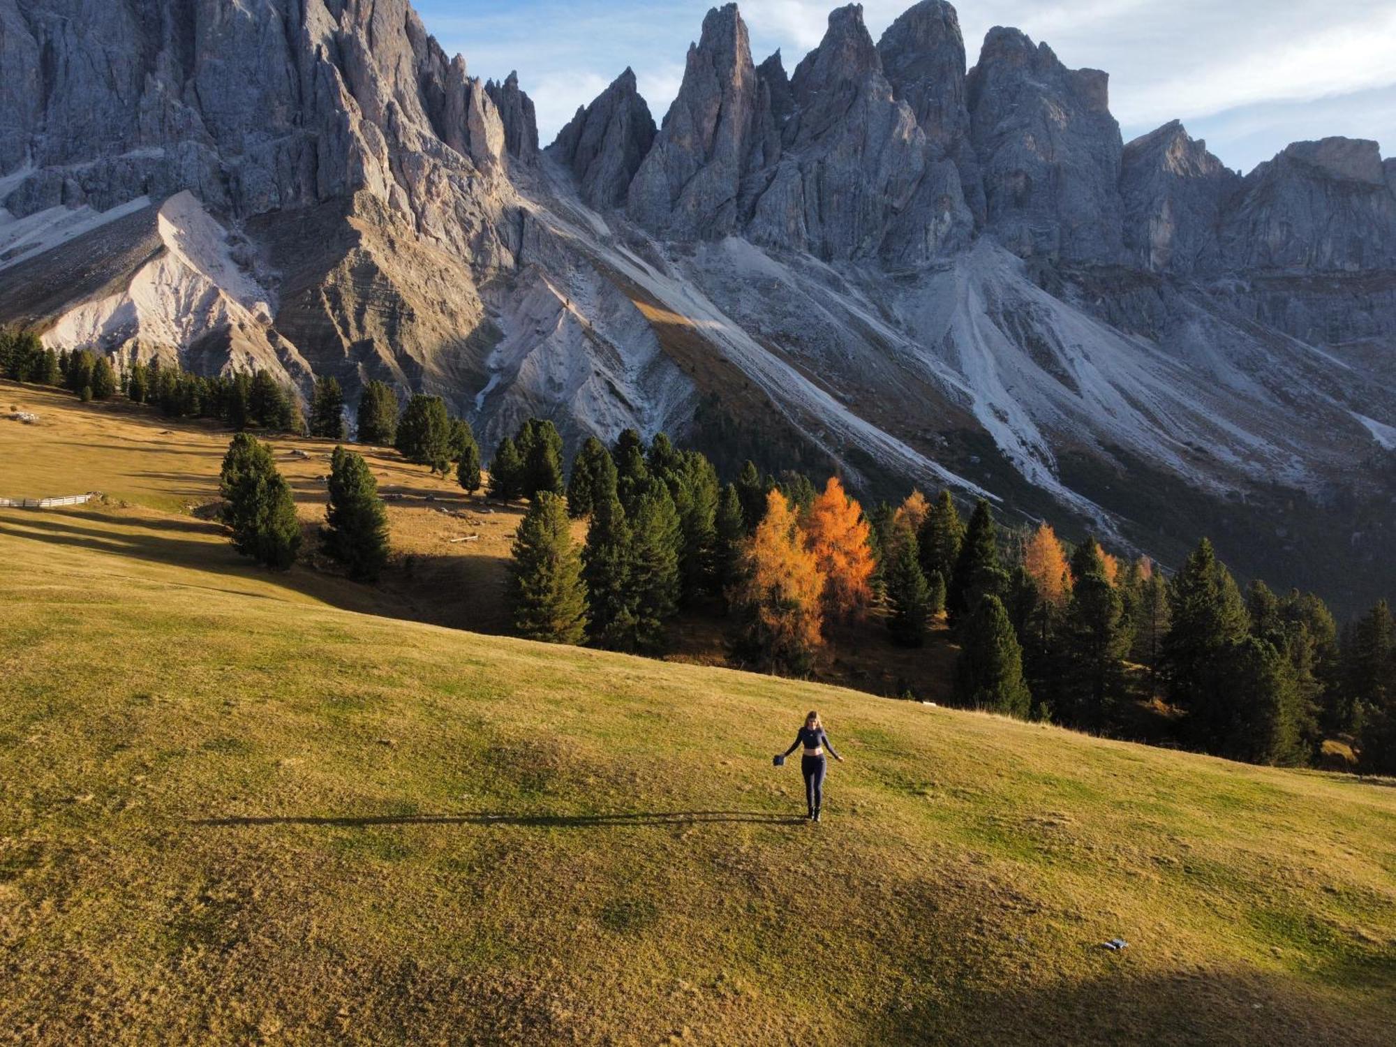
[[[709,0],[415,0],[470,73],[518,70],[543,142],[625,66],[656,120],[683,78]],[[867,0],[881,35],[910,0]],[[829,0],[750,0],[757,61],[786,68],[819,42]],[[1046,40],[1069,66],[1110,73],[1125,140],[1181,119],[1228,166],[1249,170],[1291,141],[1375,138],[1396,155],[1396,0],[965,0],[969,63],[993,25]]]

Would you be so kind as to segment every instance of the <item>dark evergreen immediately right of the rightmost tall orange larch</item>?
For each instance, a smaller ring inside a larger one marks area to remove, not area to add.
[[[1090,543],[1093,544],[1093,543]],[[1086,546],[1082,546],[1086,549]],[[1079,551],[1079,550],[1078,550]],[[1103,727],[1124,697],[1129,623],[1120,592],[1099,554],[1082,556],[1062,627],[1067,677],[1057,691],[1057,716],[1074,727]],[[1078,570],[1074,561],[1072,572]]]

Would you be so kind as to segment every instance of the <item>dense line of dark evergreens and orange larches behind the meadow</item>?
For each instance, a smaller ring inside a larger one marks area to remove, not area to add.
[[[840,621],[881,607],[892,642],[916,648],[944,614],[960,705],[1103,732],[1142,695],[1166,699],[1201,751],[1308,765],[1351,734],[1365,768],[1396,772],[1385,603],[1340,635],[1312,593],[1242,592],[1205,539],[1167,578],[1048,524],[1005,532],[987,500],[966,522],[948,491],[864,514],[838,477],[817,491],[748,462],[720,484],[701,454],[634,431],[588,440],[564,486],[560,448],[530,420],[490,476],[497,496],[530,500],[511,564],[524,637],[662,653],[678,609],[715,597],[736,660],[800,676]]]

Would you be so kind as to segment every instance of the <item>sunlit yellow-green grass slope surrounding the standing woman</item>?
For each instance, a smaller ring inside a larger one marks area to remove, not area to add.
[[[0,510],[0,1040],[1390,1041],[1389,783],[373,617],[172,522]]]

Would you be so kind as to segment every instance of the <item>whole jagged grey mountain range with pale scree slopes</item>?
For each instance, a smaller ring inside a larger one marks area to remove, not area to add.
[[[966,66],[944,0],[792,73],[729,4],[659,127],[627,70],[540,149],[406,0],[0,0],[0,321],[1396,589],[1396,161],[1242,177],[1016,29]]]

